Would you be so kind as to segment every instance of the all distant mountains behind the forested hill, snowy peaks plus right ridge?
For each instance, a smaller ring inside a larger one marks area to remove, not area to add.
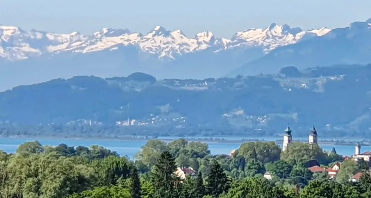
[[[230,39],[205,31],[187,37],[156,26],[146,34],[103,28],[91,35],[25,31],[0,25],[0,91],[55,78],[128,76],[205,79],[371,63],[371,19],[348,27],[302,30],[271,24]]]

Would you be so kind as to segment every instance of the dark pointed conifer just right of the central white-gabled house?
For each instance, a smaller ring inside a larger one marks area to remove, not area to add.
[[[214,198],[219,197],[230,189],[230,181],[220,164],[213,160],[210,172],[206,176],[206,191]]]

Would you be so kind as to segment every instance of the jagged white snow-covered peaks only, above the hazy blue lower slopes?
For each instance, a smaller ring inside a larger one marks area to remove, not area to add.
[[[233,48],[261,47],[268,52],[304,39],[323,36],[329,31],[328,28],[304,31],[273,23],[265,29],[248,29],[235,33],[231,39],[225,39],[215,37],[209,31],[187,37],[181,30],[169,31],[161,26],[156,26],[147,34],[131,32],[128,29],[103,28],[92,35],[82,35],[79,32],[57,34],[25,31],[18,27],[0,25],[0,57],[15,61],[61,52],[116,50],[123,45],[135,46],[142,52],[158,56],[159,59],[171,60],[205,49],[218,52]]]

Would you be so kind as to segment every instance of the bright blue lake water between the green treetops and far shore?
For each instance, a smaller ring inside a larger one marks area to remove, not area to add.
[[[133,159],[134,155],[140,150],[140,147],[145,145],[145,143],[147,142],[147,140],[0,138],[0,149],[7,153],[14,153],[19,145],[35,140],[38,140],[42,145],[48,146],[58,146],[62,143],[74,147],[90,147],[92,145],[98,145],[116,151],[120,155],[127,155],[131,159]],[[233,149],[239,148],[241,144],[208,142],[208,145],[212,154],[229,154]],[[321,147],[327,151],[335,148],[336,152],[341,155],[350,156],[354,154],[354,146],[322,145]],[[364,146],[361,148],[361,152],[367,150],[371,150],[371,146]]]

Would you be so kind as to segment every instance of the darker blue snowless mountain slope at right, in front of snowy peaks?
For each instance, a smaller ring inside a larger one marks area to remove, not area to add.
[[[274,74],[284,66],[300,69],[333,64],[367,64],[371,62],[371,19],[336,28],[312,39],[271,50],[261,58],[233,70],[238,74]]]

